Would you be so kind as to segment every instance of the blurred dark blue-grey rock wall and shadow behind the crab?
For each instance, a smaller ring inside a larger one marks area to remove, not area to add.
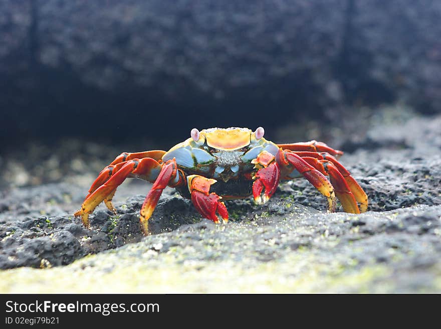
[[[68,138],[107,159],[82,141],[232,125],[326,141],[388,104],[435,114],[439,22],[439,0],[0,0],[0,155]]]

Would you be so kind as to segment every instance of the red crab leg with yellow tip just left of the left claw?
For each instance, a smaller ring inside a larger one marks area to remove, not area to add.
[[[174,158],[165,162],[151,190],[145,197],[140,212],[141,229],[144,235],[148,235],[148,220],[155,210],[162,191],[167,185],[175,187],[183,183],[181,175],[178,173],[176,167],[176,160]]]

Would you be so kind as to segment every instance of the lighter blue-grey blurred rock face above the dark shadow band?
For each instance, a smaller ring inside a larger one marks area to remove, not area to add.
[[[439,106],[434,1],[5,0],[0,9],[7,74],[42,65],[106,90],[157,85],[176,99],[238,88],[259,97],[269,81],[280,98],[293,92],[284,81],[307,81],[298,87],[326,103],[397,91],[426,111]]]

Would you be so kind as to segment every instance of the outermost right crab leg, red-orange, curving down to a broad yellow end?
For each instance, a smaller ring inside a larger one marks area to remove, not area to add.
[[[337,159],[332,156],[329,153],[322,152],[322,153],[316,153],[316,152],[295,152],[297,155],[301,157],[315,157],[319,160],[327,160],[331,162],[340,172],[340,174],[343,176],[344,180],[346,181],[346,184],[349,187],[349,190],[352,192],[352,194],[355,197],[355,200],[359,203],[360,206],[360,212],[364,213],[367,211],[367,205],[368,205],[368,198],[366,193],[363,191],[360,185],[358,185],[357,181],[351,176],[349,171],[343,167],[343,165],[337,161]],[[311,163],[312,164],[312,163]],[[334,184],[334,183],[332,183]]]

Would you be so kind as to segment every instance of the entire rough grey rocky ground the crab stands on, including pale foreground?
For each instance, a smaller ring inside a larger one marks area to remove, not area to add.
[[[441,292],[441,117],[387,113],[335,138],[369,196],[360,215],[327,214],[296,180],[264,206],[227,202],[230,222],[215,225],[167,189],[144,238],[142,182],[121,186],[118,215],[100,206],[91,230],[72,217],[85,186],[4,190],[0,291]]]

